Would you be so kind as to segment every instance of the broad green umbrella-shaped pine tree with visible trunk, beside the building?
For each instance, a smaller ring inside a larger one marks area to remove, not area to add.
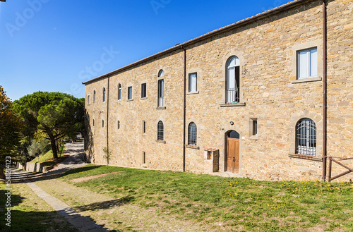
[[[13,109],[23,118],[25,135],[44,133],[50,141],[53,158],[58,157],[58,141],[83,130],[84,99],[61,92],[34,92],[13,102]]]

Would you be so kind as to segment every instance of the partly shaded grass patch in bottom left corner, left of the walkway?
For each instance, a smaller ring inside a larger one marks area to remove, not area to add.
[[[5,224],[6,185],[0,182],[0,231],[78,231],[25,183],[11,184],[11,227]]]

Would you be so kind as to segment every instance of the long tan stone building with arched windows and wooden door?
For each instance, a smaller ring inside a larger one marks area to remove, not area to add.
[[[321,180],[353,157],[352,8],[292,1],[83,83],[87,159]]]

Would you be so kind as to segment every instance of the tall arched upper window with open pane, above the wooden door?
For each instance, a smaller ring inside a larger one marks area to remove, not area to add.
[[[232,56],[227,62],[227,103],[240,101],[240,61],[237,56]]]

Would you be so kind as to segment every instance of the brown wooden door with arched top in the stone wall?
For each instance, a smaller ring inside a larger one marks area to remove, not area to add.
[[[239,173],[240,135],[236,130],[225,133],[226,171]]]

